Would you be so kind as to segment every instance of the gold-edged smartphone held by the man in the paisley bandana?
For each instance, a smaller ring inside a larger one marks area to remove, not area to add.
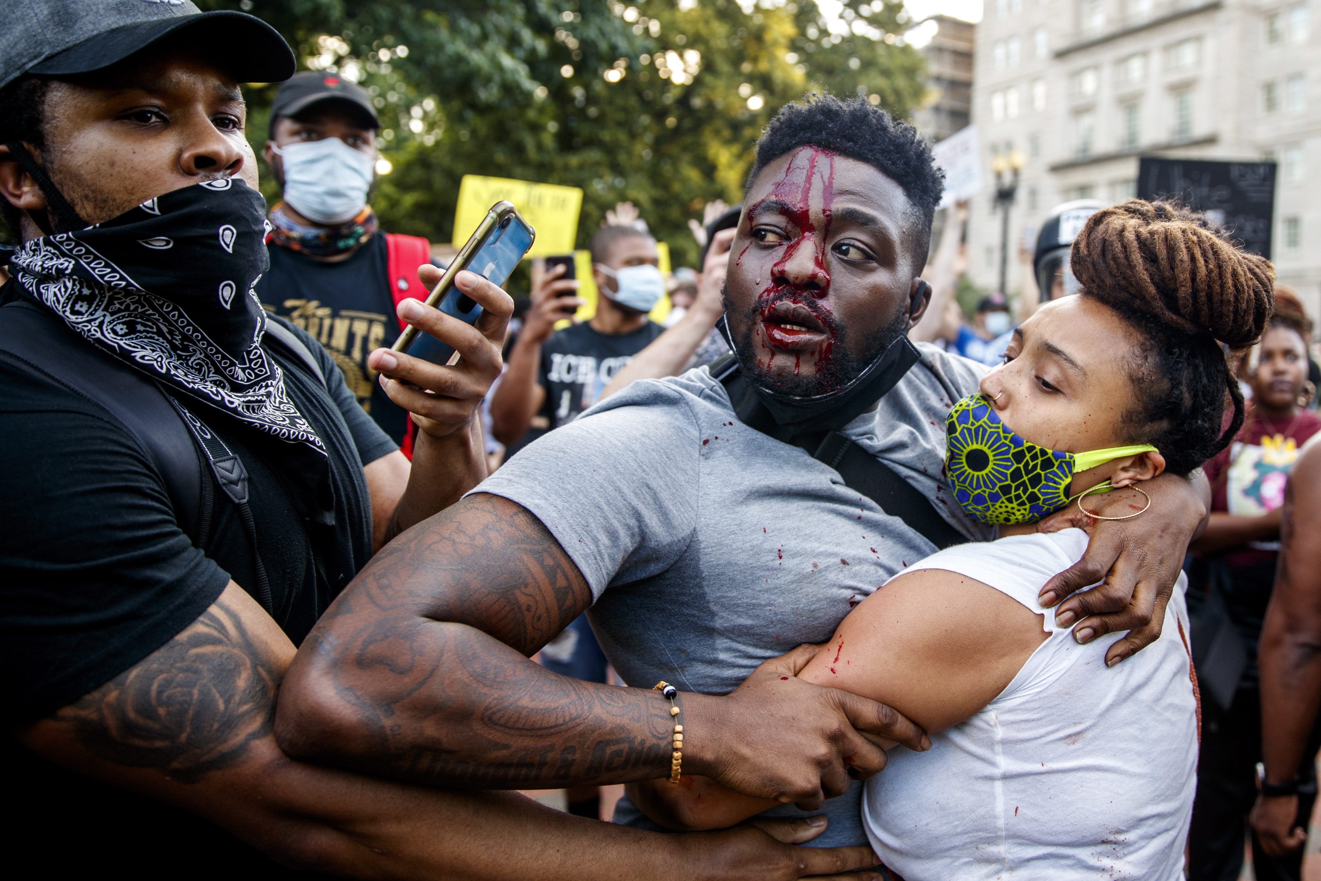
[[[487,281],[503,287],[518,262],[532,247],[535,238],[536,231],[519,215],[518,209],[505,201],[497,202],[477,225],[477,230],[460,248],[458,255],[441,276],[440,284],[435,287],[424,302],[465,324],[476,324],[482,314],[482,308],[454,287],[454,276],[462,269],[470,269]],[[410,351],[415,339],[417,339],[417,329],[404,328],[390,349],[392,351]],[[453,347],[429,334],[417,342],[417,351],[410,354],[440,365],[457,361],[457,353]]]

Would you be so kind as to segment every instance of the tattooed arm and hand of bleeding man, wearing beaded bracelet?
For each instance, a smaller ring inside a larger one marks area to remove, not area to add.
[[[304,642],[276,736],[301,759],[423,783],[559,787],[666,777],[670,704],[577,682],[528,655],[590,605],[527,510],[472,495],[383,548]],[[684,770],[816,807],[923,736],[875,701],[762,664],[724,697],[684,695]],[[783,675],[781,675],[783,674]]]

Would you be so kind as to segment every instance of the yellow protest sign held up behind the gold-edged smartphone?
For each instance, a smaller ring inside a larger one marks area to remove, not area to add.
[[[579,211],[583,210],[583,190],[481,174],[464,174],[458,184],[458,205],[454,209],[456,248],[464,247],[486,211],[501,199],[513,202],[523,219],[536,230],[530,256],[568,254],[573,250]]]

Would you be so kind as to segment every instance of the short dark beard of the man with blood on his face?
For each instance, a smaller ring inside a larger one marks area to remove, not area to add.
[[[725,287],[724,296],[728,308],[728,285]],[[811,308],[810,304],[806,305]],[[889,349],[896,339],[908,335],[909,313],[904,310],[890,324],[869,333],[863,339],[861,354],[855,354],[852,346],[848,345],[848,328],[839,324],[834,316],[814,309],[816,317],[835,333],[830,355],[824,363],[816,365],[816,371],[812,376],[773,374],[769,370],[769,365],[768,367],[762,367],[757,363],[757,353],[752,341],[757,318],[765,306],[765,302],[754,304],[744,313],[746,325],[742,334],[734,341],[734,354],[738,357],[738,366],[742,369],[744,375],[750,376],[753,382],[768,391],[794,398],[819,398],[844,388],[861,376],[863,371],[871,367],[872,362]]]

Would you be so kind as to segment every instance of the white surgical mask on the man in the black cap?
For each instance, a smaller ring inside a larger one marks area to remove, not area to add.
[[[338,137],[276,147],[284,160],[284,201],[313,223],[351,221],[367,206],[376,160]]]

